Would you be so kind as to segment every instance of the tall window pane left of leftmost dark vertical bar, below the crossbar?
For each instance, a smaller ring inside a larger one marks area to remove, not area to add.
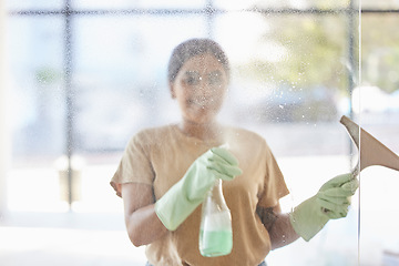
[[[47,184],[55,183],[53,164],[65,146],[62,22],[54,17],[8,20],[16,167],[9,184],[16,188],[10,194],[11,208],[47,208],[58,200],[58,192]]]

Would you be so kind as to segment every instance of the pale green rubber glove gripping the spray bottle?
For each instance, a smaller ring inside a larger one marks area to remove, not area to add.
[[[204,201],[217,178],[229,181],[242,173],[232,153],[213,147],[155,203],[155,213],[167,229],[174,231]]]

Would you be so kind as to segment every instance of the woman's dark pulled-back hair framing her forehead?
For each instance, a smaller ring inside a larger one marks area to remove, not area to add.
[[[227,78],[229,78],[228,59],[221,45],[209,39],[191,39],[182,42],[173,50],[167,65],[168,81],[174,82],[178,71],[188,59],[204,53],[214,55],[222,63]]]

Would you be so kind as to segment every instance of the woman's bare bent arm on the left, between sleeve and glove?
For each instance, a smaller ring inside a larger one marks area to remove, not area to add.
[[[123,184],[122,198],[129,238],[134,246],[150,244],[167,232],[154,212],[154,196],[151,185]]]

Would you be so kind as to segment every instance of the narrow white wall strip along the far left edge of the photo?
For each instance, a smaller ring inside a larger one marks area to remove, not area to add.
[[[6,4],[0,1],[0,215],[7,209],[7,173],[10,162],[11,134],[7,109],[9,103],[6,53]]]

